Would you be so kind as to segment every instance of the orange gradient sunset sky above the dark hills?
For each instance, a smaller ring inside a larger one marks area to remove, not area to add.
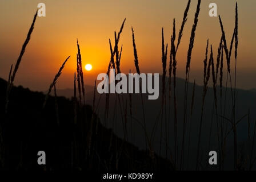
[[[121,71],[127,73],[131,69],[135,72],[131,39],[131,26],[133,26],[141,72],[162,73],[161,28],[164,27],[165,41],[170,44],[173,18],[176,19],[178,31],[187,4],[186,0],[2,0],[0,2],[0,77],[7,79],[10,65],[15,64],[18,58],[37,10],[37,4],[41,2],[46,5],[46,17],[37,18],[34,32],[14,81],[15,85],[23,85],[32,90],[46,90],[58,68],[69,55],[71,58],[57,86],[72,88],[77,38],[81,46],[83,65],[86,63],[93,65],[93,71],[85,72],[86,84],[92,84],[98,73],[106,72],[110,59],[108,41],[110,38],[114,43],[114,31],[119,31],[124,18],[126,24],[120,40],[123,44]],[[218,18],[208,15],[208,6],[211,2],[218,5],[218,14],[222,16],[228,44],[234,30],[235,1],[202,0],[190,73],[191,80],[195,78],[197,84],[201,84],[203,80],[203,59],[207,39],[209,38],[210,44],[213,44],[216,57],[221,38]],[[254,85],[256,1],[238,0],[237,2],[238,87],[256,88]],[[179,77],[185,77],[186,54],[196,6],[197,1],[193,0],[177,53]],[[233,59],[231,66],[234,66]]]

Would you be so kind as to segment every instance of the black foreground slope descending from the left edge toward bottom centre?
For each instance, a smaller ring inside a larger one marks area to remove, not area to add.
[[[50,97],[42,109],[45,95],[19,86],[13,88],[5,114],[6,86],[0,78],[1,169],[173,169],[168,160],[138,150],[103,127],[89,105],[78,106],[74,123],[72,100],[57,97],[56,112],[54,97]],[[46,166],[37,164],[38,151],[46,152]]]

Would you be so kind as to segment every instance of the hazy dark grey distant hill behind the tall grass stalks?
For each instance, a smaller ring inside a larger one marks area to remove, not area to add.
[[[155,150],[159,154],[159,141],[160,141],[160,121],[161,121],[161,96],[162,96],[162,76],[159,76],[159,98],[158,100],[148,100],[147,96],[148,94],[143,94],[143,100],[145,105],[145,113],[146,113],[146,126],[147,126],[147,133],[151,134],[153,131],[153,127],[155,123],[157,123],[157,130],[154,131],[152,135],[152,145]],[[169,78],[166,78],[166,83],[168,83]],[[185,86],[185,80],[182,78],[177,78],[177,107],[178,107],[178,142],[179,147],[178,150],[180,153],[181,151],[181,145],[182,142],[182,131],[183,131],[183,98],[184,98],[184,86]],[[173,89],[173,88],[171,88]],[[169,90],[169,86],[167,85],[166,90]],[[188,146],[188,138],[189,138],[189,125],[190,121],[192,122],[192,128],[191,128],[191,160],[189,161],[189,168],[194,169],[193,164],[195,163],[195,152],[197,150],[197,141],[198,141],[198,133],[199,133],[199,121],[201,117],[201,106],[202,106],[202,92],[203,92],[203,86],[195,85],[195,98],[194,98],[194,111],[193,116],[190,118],[190,107],[191,107],[191,95],[193,90],[193,83],[189,83],[189,91],[188,91],[188,98],[187,98],[187,128],[186,128],[186,140],[185,140],[185,158],[187,157],[187,146]],[[174,121],[174,107],[173,107],[173,96],[171,96],[171,105],[169,105],[169,94],[168,91],[166,91],[166,100],[167,100],[167,118],[169,118],[169,106],[170,109],[170,119],[167,119],[167,121],[170,122],[169,125],[169,148],[173,148],[174,146],[174,134],[173,134],[173,121]],[[220,110],[220,104],[219,104],[219,87],[217,87],[217,98],[218,98],[218,110]],[[226,109],[224,109],[224,98],[225,93],[227,95],[226,97]],[[221,119],[221,122],[226,127],[227,132],[231,130],[230,122],[226,119],[223,119],[222,117],[225,116],[225,118],[231,118],[231,110],[232,110],[232,101],[231,101],[231,89],[227,88],[227,91],[225,89],[225,86],[223,86],[222,91],[223,97],[222,97],[222,116],[221,113],[219,114],[218,119]],[[99,94],[97,94],[97,101],[100,97]],[[121,95],[120,95],[121,97]],[[93,92],[87,93],[87,103],[91,104],[93,98]],[[129,96],[128,94],[122,94],[122,100],[121,104],[127,102],[127,113],[129,113]],[[115,101],[117,101],[117,107],[115,109]],[[254,127],[254,121],[256,118],[256,113],[254,112],[256,110],[256,92],[251,92],[250,90],[243,90],[243,89],[237,89],[237,113],[236,113],[236,119],[237,121],[243,118],[241,121],[239,121],[237,125],[238,130],[238,150],[240,151],[239,155],[241,158],[245,158],[247,154],[250,154],[250,147],[252,143],[252,136],[253,136],[253,127]],[[116,94],[110,94],[110,113],[109,113],[109,119],[107,120],[107,127],[113,128],[115,133],[119,137],[123,137],[123,125],[122,125],[122,118],[120,114],[115,115],[114,113],[120,113],[119,104],[118,104],[118,97]],[[202,155],[201,161],[202,163],[206,164],[208,163],[209,159],[209,150],[215,150],[218,149],[217,144],[217,125],[216,125],[216,113],[214,111],[213,113],[213,103],[214,103],[214,94],[213,94],[213,88],[209,87],[206,95],[205,100],[205,111],[203,114],[203,130],[202,130]],[[135,144],[135,146],[138,146],[141,149],[145,149],[145,139],[143,137],[143,129],[141,124],[139,124],[137,121],[143,121],[143,114],[142,114],[142,106],[141,106],[141,97],[139,94],[132,94],[132,113],[133,118],[128,119],[127,123],[127,130],[129,133],[129,138],[132,143]],[[250,125],[248,124],[248,116],[246,115],[248,113],[248,110],[250,109]],[[225,111],[225,115],[224,115]],[[219,111],[220,112],[220,111]],[[99,118],[101,118],[101,121],[103,121],[105,117],[105,95],[101,96],[101,100],[99,102],[99,107],[97,114]],[[124,113],[123,113],[124,114]],[[130,115],[130,114],[128,114]],[[213,117],[212,117],[213,115]],[[213,119],[212,119],[213,118]],[[190,120],[191,119],[191,120]],[[114,122],[113,122],[114,121]],[[131,125],[132,123],[132,125]],[[212,123],[212,124],[211,124]],[[211,143],[209,147],[209,136],[210,136],[210,127],[212,126],[211,131]],[[249,129],[250,126],[250,129]],[[250,131],[249,131],[250,130]],[[163,127],[163,131],[165,131],[165,128]],[[250,133],[250,139],[249,134]],[[132,136],[132,137],[131,137]],[[162,156],[165,156],[165,142],[162,142]],[[170,151],[169,151],[170,152]],[[225,159],[225,167],[226,169],[232,169],[233,168],[233,131],[227,135],[227,141],[226,141],[226,159]],[[173,151],[171,150],[171,153],[173,154]],[[171,156],[171,153],[169,155],[169,158]],[[186,160],[185,160],[186,161]],[[191,164],[191,166],[190,166]],[[214,167],[208,168],[208,169],[214,169]]]

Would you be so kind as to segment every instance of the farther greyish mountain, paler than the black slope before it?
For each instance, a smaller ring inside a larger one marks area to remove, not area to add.
[[[153,150],[157,154],[166,156],[166,131],[167,131],[167,157],[169,159],[174,156],[174,97],[173,97],[173,80],[171,86],[171,100],[169,101],[169,86],[166,86],[166,107],[164,108],[163,117],[161,117],[161,102],[162,102],[162,76],[159,77],[159,97],[157,100],[148,100],[148,94],[143,94],[143,101],[145,106],[145,120],[147,134],[151,137],[151,145]],[[166,82],[169,82],[169,78],[166,77]],[[199,81],[198,81],[199,82]],[[177,93],[177,120],[178,120],[178,163],[181,161],[181,144],[183,138],[183,118],[184,118],[184,86],[185,80],[177,78],[176,82]],[[209,84],[207,90],[203,120],[202,120],[202,137],[200,147],[200,162],[202,164],[201,169],[215,170],[219,169],[218,165],[209,166],[209,151],[218,151],[218,134],[217,134],[217,121],[223,125],[223,138],[226,137],[226,142],[223,144],[223,166],[224,169],[233,169],[234,167],[234,134],[232,130],[231,113],[232,113],[232,96],[231,88],[223,86],[222,88],[222,102],[220,98],[220,88],[217,87],[217,107],[218,112],[214,107],[214,92],[211,84]],[[187,95],[187,115],[186,115],[186,127],[185,127],[185,142],[184,142],[184,164],[185,169],[195,169],[195,162],[197,158],[197,146],[198,146],[198,134],[199,123],[201,121],[201,107],[202,107],[202,92],[203,86],[195,84],[194,93],[194,105],[193,114],[191,115],[191,101],[192,101],[193,83],[188,85]],[[234,92],[234,88],[233,88]],[[103,121],[105,117],[105,95],[97,95],[97,101],[99,98],[99,107],[97,115]],[[87,93],[87,103],[92,103],[93,92]],[[135,146],[141,149],[145,148],[145,134],[141,123],[143,123],[143,111],[140,94],[131,94],[131,116],[130,116],[130,99],[129,94],[120,95],[121,106],[127,103],[127,132],[129,141]],[[253,148],[253,136],[254,126],[256,119],[256,93],[250,90],[237,89],[237,106],[235,112],[235,120],[237,122],[237,139],[238,139],[238,160],[241,168],[248,169],[250,163],[253,163],[253,159],[256,158],[255,148]],[[117,108],[115,105],[117,103]],[[106,126],[115,129],[115,133],[122,138],[123,125],[121,117],[121,109],[119,108],[119,98],[117,94],[110,94],[110,106],[109,106],[109,120]],[[249,113],[250,110],[250,114]],[[163,118],[163,119],[162,119]],[[166,118],[166,119],[165,119]],[[161,121],[162,119],[162,121]],[[140,123],[139,123],[140,122]],[[162,122],[162,130],[161,130]],[[167,130],[166,125],[167,123]],[[191,130],[190,130],[191,126]],[[160,138],[162,136],[162,140]],[[160,151],[161,142],[161,153]],[[255,140],[256,141],[256,140]],[[255,146],[254,141],[254,146]],[[254,169],[256,167],[256,159],[254,161]]]

